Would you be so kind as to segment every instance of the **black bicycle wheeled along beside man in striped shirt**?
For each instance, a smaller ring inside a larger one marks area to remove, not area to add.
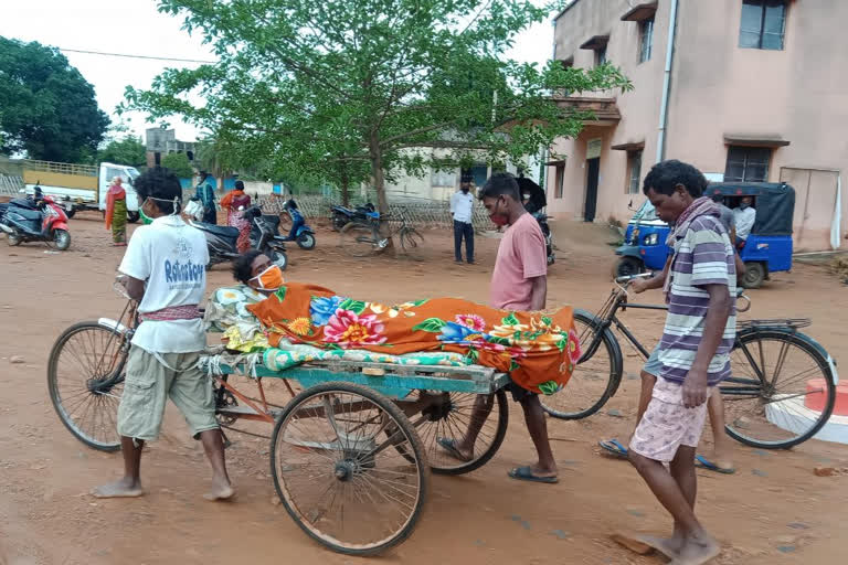
[[[649,274],[646,274],[649,276]],[[582,419],[601,409],[622,382],[618,330],[644,360],[650,355],[618,319],[627,308],[667,310],[666,306],[630,303],[621,282],[597,315],[574,310],[582,356],[564,392],[541,397],[542,407],[560,419]],[[750,299],[740,292],[750,308]],[[731,351],[731,377],[720,385],[733,439],[763,449],[787,449],[813,437],[827,423],[836,402],[836,363],[813,338],[799,332],[807,319],[749,320],[738,324]],[[775,351],[776,350],[776,351]],[[788,376],[785,376],[788,375]]]

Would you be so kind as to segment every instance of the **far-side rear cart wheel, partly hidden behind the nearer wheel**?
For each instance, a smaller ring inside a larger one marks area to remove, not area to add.
[[[504,443],[509,425],[509,407],[507,394],[501,388],[494,396],[471,393],[443,393],[437,391],[421,391],[422,395],[431,395],[433,403],[413,417],[418,436],[427,452],[430,469],[436,475],[464,475],[486,465]],[[475,418],[475,404],[480,402],[483,424],[479,426],[477,441],[474,445],[474,458],[463,461],[453,457],[445,448],[445,443],[458,441],[463,438]],[[391,430],[386,430],[386,435]],[[398,451],[412,460],[403,446],[395,447]]]

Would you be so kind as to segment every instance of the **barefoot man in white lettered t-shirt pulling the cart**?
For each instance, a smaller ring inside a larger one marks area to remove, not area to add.
[[[124,454],[124,478],[96,488],[98,498],[144,494],[141,449],[156,439],[168,397],[212,463],[208,500],[234,494],[224,462],[224,445],[215,419],[212,380],[198,369],[206,338],[198,306],[206,288],[209,250],[203,234],[179,216],[179,179],[159,167],[136,179],[141,212],[153,218],[135,231],[118,270],[139,302],[141,323],[132,337],[124,394],[118,407],[118,434]]]

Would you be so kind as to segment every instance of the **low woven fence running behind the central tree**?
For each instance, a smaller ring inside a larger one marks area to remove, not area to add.
[[[276,194],[259,198],[259,204],[263,211],[272,214],[283,212],[283,204],[286,199]],[[330,217],[330,207],[339,205],[341,202],[326,196],[303,195],[297,196],[297,207],[307,218]],[[353,205],[353,204],[351,204]],[[418,201],[404,203],[390,203],[389,216],[398,217],[401,212],[406,214],[406,220],[412,224],[427,227],[448,227],[453,228],[454,220],[451,215],[451,205],[444,201]],[[474,204],[474,217],[471,220],[474,228],[478,232],[495,230],[495,225],[489,220],[486,209],[479,202]]]

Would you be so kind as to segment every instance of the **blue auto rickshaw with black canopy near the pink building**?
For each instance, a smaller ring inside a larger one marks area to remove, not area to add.
[[[740,280],[743,287],[759,288],[770,273],[792,269],[795,213],[792,186],[770,182],[714,182],[707,188],[706,195],[731,210],[738,207],[743,198],[753,199],[754,225],[744,245],[738,248],[745,264],[745,274]],[[670,253],[666,245],[669,231],[668,224],[657,217],[654,206],[646,201],[627,225],[625,244],[615,250],[621,256],[616,276],[662,269]]]

